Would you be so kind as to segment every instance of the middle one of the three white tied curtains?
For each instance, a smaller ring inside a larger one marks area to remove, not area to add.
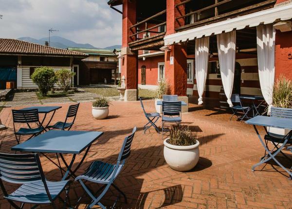
[[[230,107],[233,107],[231,95],[235,70],[236,31],[217,35],[217,46],[224,92],[227,103]]]

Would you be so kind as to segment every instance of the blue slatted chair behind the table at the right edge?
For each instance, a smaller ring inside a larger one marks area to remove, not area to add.
[[[292,122],[292,109],[291,108],[272,107],[271,108],[271,117],[291,119],[291,122]],[[268,147],[268,149],[269,149],[268,141],[271,141],[272,144],[274,145],[274,148],[271,150],[271,152],[276,152],[279,149],[279,144],[282,144],[285,141],[285,139],[287,139],[289,133],[286,136],[283,136],[283,135],[279,135],[279,134],[270,133],[267,131],[266,128],[265,128],[265,130],[267,132],[267,134],[265,135],[265,138],[264,138],[265,142],[266,142],[266,147]],[[292,138],[288,139],[286,144],[292,144]],[[290,157],[288,157],[282,151],[280,151],[280,153],[284,157],[286,157],[287,159],[291,160]],[[265,155],[266,155],[266,152],[265,152]]]

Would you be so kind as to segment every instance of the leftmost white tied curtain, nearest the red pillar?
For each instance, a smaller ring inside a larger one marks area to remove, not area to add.
[[[203,93],[206,85],[209,59],[209,36],[196,39],[195,68],[199,105],[203,104]]]

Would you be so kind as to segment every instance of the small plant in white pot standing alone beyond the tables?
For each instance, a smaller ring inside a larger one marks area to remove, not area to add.
[[[109,115],[110,100],[107,97],[99,97],[92,102],[92,115],[95,119],[105,119]]]

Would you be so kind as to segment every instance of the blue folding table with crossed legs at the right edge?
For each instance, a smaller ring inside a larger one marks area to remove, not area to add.
[[[256,116],[255,118],[252,118],[248,121],[246,121],[247,124],[251,124],[254,126],[256,130],[256,134],[258,139],[260,140],[261,144],[265,148],[267,155],[262,158],[260,162],[258,162],[256,165],[253,166],[252,171],[255,171],[255,168],[263,163],[268,162],[269,160],[273,159],[282,169],[284,169],[290,176],[290,179],[292,178],[292,173],[288,169],[286,169],[275,157],[276,155],[283,150],[285,145],[287,144],[287,141],[292,137],[292,120],[291,119],[286,119],[286,118],[277,118],[277,117],[267,117],[267,116]],[[274,127],[274,128],[285,128],[291,130],[288,135],[283,136],[283,143],[282,145],[275,150],[274,152],[271,152],[266,143],[263,141],[261,136],[258,133],[258,130],[256,126],[263,126],[265,128],[265,131],[268,133],[266,127]]]

